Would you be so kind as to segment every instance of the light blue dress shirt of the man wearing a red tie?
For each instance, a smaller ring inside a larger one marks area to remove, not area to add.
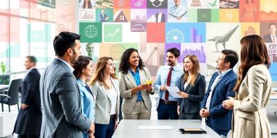
[[[155,90],[161,92],[159,99],[165,99],[166,91],[160,90],[161,86],[166,86],[166,80],[168,79],[168,72],[171,66],[161,66],[157,72],[156,80],[154,83]],[[171,72],[170,86],[177,86],[180,89],[181,75],[184,73],[183,68],[178,64],[173,67]],[[178,98],[172,97],[169,94],[168,101],[177,101]]]

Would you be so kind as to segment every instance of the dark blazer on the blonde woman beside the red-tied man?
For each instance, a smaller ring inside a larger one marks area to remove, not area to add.
[[[186,92],[188,94],[188,98],[179,98],[178,105],[180,106],[180,112],[188,114],[199,114],[200,102],[204,98],[205,88],[205,77],[201,74],[198,74],[195,80],[195,86],[190,86],[190,84],[188,84],[184,90],[184,75],[181,75],[180,91]]]

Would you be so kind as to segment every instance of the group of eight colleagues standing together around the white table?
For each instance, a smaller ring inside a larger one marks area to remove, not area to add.
[[[166,66],[159,68],[152,84],[138,50],[125,50],[117,78],[111,57],[100,57],[93,68],[91,59],[80,55],[80,36],[60,32],[53,42],[56,57],[39,83],[40,137],[111,137],[121,111],[123,119],[150,119],[150,95],[154,92],[159,93],[158,119],[205,117],[206,124],[219,135],[232,130],[233,137],[271,137],[264,110],[271,91],[267,48],[258,35],[244,37],[240,43],[238,77],[233,71],[238,54],[222,50],[218,71],[205,90],[205,77],[195,55],[184,57],[181,67],[179,50],[168,49]],[[181,98],[172,97],[167,86],[177,86]]]

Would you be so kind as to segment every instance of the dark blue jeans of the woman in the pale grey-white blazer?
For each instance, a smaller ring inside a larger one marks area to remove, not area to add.
[[[114,125],[116,123],[116,119],[109,119],[109,124],[95,124],[95,133],[94,137],[96,138],[111,138],[114,134]]]

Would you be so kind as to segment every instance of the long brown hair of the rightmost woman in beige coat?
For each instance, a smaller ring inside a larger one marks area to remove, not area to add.
[[[270,66],[270,59],[267,53],[267,46],[262,38],[256,34],[248,35],[240,40],[242,49],[240,51],[240,67],[238,69],[238,81],[234,91],[240,88],[242,80],[247,75],[249,68],[258,64]]]

